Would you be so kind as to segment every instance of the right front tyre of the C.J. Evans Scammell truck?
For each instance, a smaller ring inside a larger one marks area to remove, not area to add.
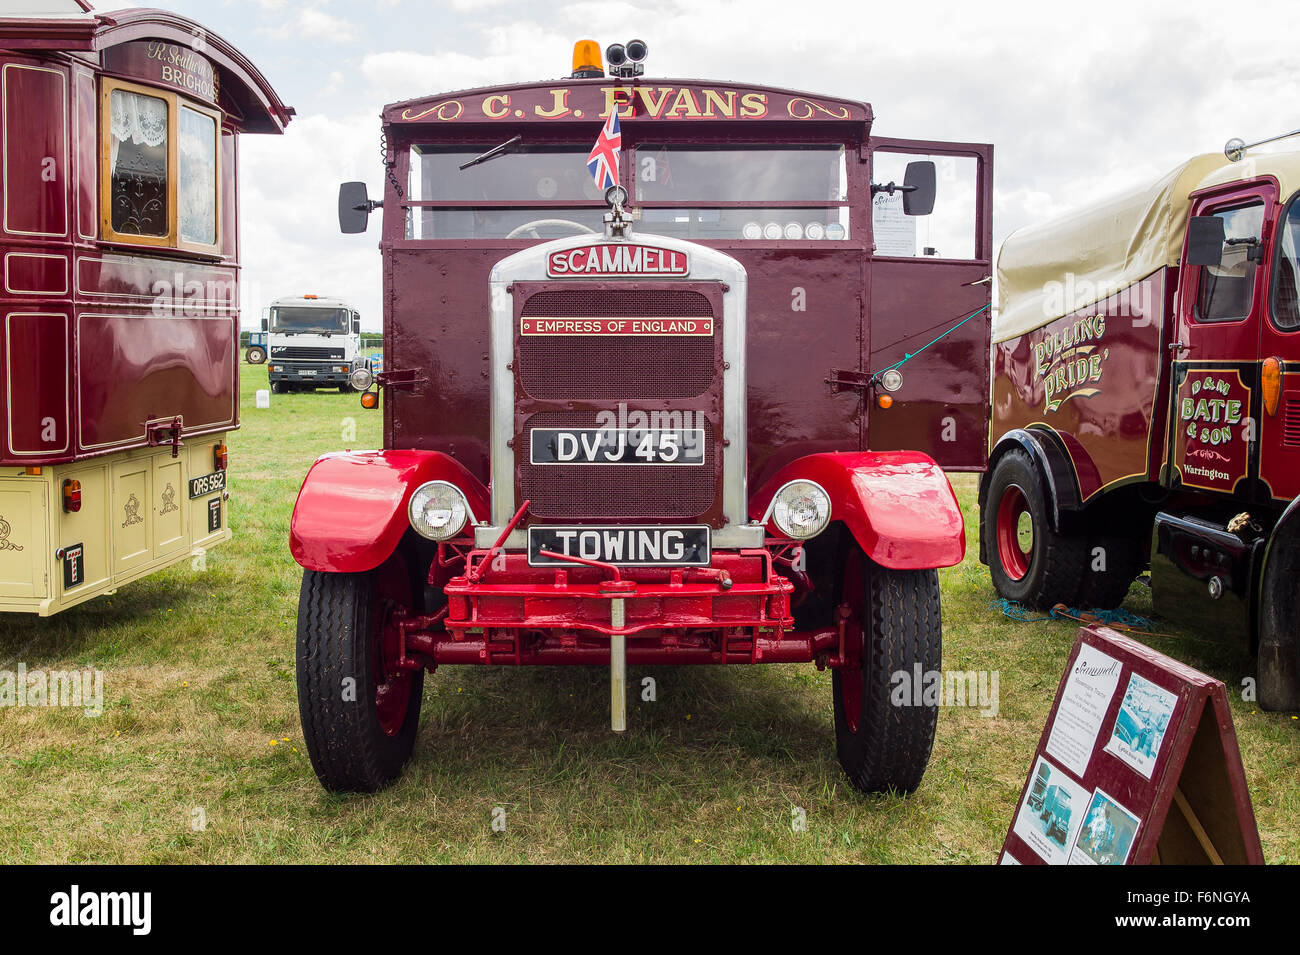
[[[855,544],[845,559],[841,605],[845,656],[858,668],[837,668],[835,748],[849,782],[863,793],[913,793],[930,763],[939,720],[922,687],[898,703],[893,674],[909,681],[942,664],[942,624],[936,570],[887,570]]]

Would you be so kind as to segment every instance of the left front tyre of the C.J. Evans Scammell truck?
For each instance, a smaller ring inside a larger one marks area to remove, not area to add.
[[[415,747],[424,670],[391,676],[391,611],[410,607],[396,555],[360,574],[303,572],[298,602],[298,712],[321,785],[376,793]],[[389,639],[385,639],[385,634]]]

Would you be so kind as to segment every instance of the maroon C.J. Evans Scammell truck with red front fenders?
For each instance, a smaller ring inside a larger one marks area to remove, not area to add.
[[[384,110],[384,450],[291,525],[316,772],[393,781],[443,665],[608,667],[623,730],[628,664],[797,661],[852,783],[911,791],[936,709],[890,677],[940,667],[942,469],[984,466],[992,148],[585,58]],[[344,185],[343,230],[377,205]]]

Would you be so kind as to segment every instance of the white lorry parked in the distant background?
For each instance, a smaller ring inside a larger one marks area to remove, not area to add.
[[[354,370],[370,369],[361,353],[361,316],[343,299],[291,295],[276,299],[261,320],[268,333],[270,390],[350,391]]]

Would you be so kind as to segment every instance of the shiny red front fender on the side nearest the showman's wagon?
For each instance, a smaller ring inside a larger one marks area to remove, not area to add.
[[[411,526],[407,502],[426,481],[464,491],[474,518],[490,500],[473,474],[438,451],[341,451],[316,459],[289,524],[289,551],[308,570],[359,573],[382,564]]]

